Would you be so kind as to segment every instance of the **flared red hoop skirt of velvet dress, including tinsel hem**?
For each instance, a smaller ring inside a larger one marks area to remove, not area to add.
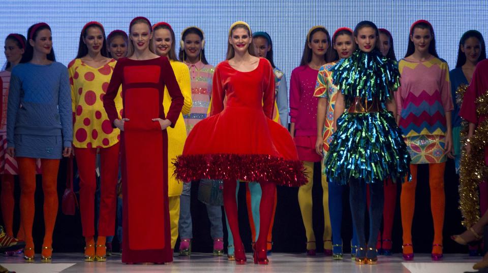
[[[176,178],[185,182],[238,179],[287,186],[307,183],[288,130],[262,110],[246,107],[227,107],[197,123],[174,164]]]

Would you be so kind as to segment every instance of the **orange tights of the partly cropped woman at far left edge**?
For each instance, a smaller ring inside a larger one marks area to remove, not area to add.
[[[5,232],[9,236],[14,236],[13,223],[14,223],[14,176],[5,174],[2,175],[2,193],[0,194],[0,206],[2,207],[2,216],[5,225]],[[19,232],[17,232],[18,240],[24,240],[24,229],[20,225]]]

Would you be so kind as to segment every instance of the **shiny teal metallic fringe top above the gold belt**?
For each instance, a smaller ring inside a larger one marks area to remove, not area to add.
[[[377,50],[356,50],[349,58],[340,60],[331,71],[334,85],[348,97],[364,97],[380,101],[393,99],[390,91],[400,87],[398,63],[383,57]],[[346,101],[348,105],[350,101]]]

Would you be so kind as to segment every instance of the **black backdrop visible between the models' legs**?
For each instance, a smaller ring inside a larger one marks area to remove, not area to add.
[[[58,196],[59,200],[65,190],[67,160],[63,159],[60,164],[58,175]],[[461,213],[459,206],[459,193],[457,191],[458,176],[455,174],[454,162],[449,160],[445,172],[446,192],[446,213],[444,220],[444,253],[467,253],[468,248],[457,245],[449,237],[458,234],[465,229],[461,225]],[[210,237],[210,223],[207,218],[205,205],[197,200],[198,183],[192,183],[192,217],[193,217],[193,252],[211,252],[212,239]],[[19,195],[20,188],[16,178],[15,188],[15,216],[14,231],[19,225]],[[76,185],[75,185],[76,186]],[[76,188],[75,188],[76,191]],[[278,186],[278,206],[276,210],[275,225],[273,227],[273,251],[274,252],[305,252],[307,238],[301,219],[297,198],[298,188]],[[400,216],[400,187],[398,187],[398,198],[396,202],[395,220],[393,224],[393,252],[402,251],[402,223]],[[349,209],[349,191],[344,191],[344,215],[343,215],[343,246],[344,252],[350,251],[349,242],[352,235],[351,213]],[[245,187],[241,183],[239,190],[239,224],[241,236],[247,251],[251,251],[251,230],[247,210],[245,206]],[[315,236],[317,238],[317,252],[322,251],[323,232],[323,208],[322,208],[322,186],[320,183],[320,166],[317,163],[314,174],[313,187],[313,223]],[[36,188],[36,215],[34,219],[33,236],[36,244],[36,252],[41,251],[42,238],[44,235],[44,222],[42,213],[43,194],[41,177],[37,177]],[[227,246],[227,231],[224,223],[224,239]],[[368,225],[367,225],[368,226]],[[418,183],[415,201],[415,215],[412,226],[413,245],[415,253],[430,253],[434,236],[432,215],[430,209],[429,169],[427,165],[420,165],[418,168]],[[176,243],[178,249],[179,241]],[[59,212],[56,220],[53,235],[54,252],[83,252],[84,238],[81,235],[81,219],[79,210],[74,216],[67,216]],[[117,238],[113,241],[114,251],[118,251]]]

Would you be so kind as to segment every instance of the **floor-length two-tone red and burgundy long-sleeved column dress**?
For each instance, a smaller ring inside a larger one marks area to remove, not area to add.
[[[172,97],[167,119],[174,126],[183,95],[166,57],[150,60],[122,58],[115,65],[103,97],[110,122],[117,119],[114,98],[122,85],[124,123],[121,132],[123,179],[122,262],[163,263],[173,260],[168,208],[168,135],[153,118],[164,119],[165,85]]]

